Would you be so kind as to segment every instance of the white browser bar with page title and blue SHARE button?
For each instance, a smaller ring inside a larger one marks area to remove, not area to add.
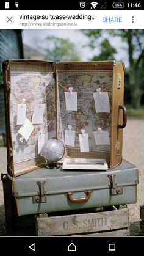
[[[0,29],[143,29],[144,10],[0,10]]]

